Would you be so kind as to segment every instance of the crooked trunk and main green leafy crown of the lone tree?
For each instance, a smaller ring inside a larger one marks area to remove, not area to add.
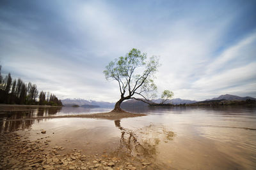
[[[122,112],[120,104],[127,99],[136,99],[150,104],[150,99],[156,97],[154,74],[159,67],[159,60],[152,56],[147,59],[146,53],[132,48],[125,55],[109,62],[103,73],[106,80],[118,81],[121,98],[115,104],[113,111]]]

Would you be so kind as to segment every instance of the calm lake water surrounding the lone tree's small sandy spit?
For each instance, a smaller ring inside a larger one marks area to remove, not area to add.
[[[256,169],[256,108],[146,108],[145,117],[122,120],[40,118],[90,114],[109,108],[23,108],[1,111],[0,132],[40,129],[58,144],[84,153],[149,155],[161,169]],[[26,118],[26,119],[24,119]],[[53,134],[54,133],[54,134]]]

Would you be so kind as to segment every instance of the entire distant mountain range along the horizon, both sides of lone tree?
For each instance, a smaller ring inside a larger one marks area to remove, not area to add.
[[[245,101],[246,99],[252,99],[256,100],[253,97],[239,97],[239,96],[234,96],[231,94],[225,94],[221,95],[219,97],[214,97],[212,99],[206,99],[205,101],[212,101],[212,100],[227,100],[227,101]],[[109,103],[109,102],[104,102],[104,101],[92,101],[92,100],[85,100],[85,99],[63,99],[61,100],[64,106],[72,106],[72,105],[78,105],[78,106],[86,106],[86,107],[100,107],[100,108],[113,108],[115,106],[115,103]],[[154,103],[160,103],[161,99],[156,99],[153,100]],[[191,100],[186,100],[186,99],[180,99],[180,98],[175,98],[171,99],[169,101],[172,104],[193,104],[197,103],[198,101],[191,101]],[[124,101],[121,104],[122,107],[143,107],[147,106],[146,103],[143,103],[142,101],[136,101],[135,99],[130,99],[128,101]]]

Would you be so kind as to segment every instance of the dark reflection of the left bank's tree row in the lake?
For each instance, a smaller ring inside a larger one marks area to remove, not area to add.
[[[34,117],[45,117],[55,115],[61,108],[20,108],[20,111],[3,111],[0,114],[0,133],[12,132],[16,130],[29,129],[35,122],[40,122],[43,118],[30,119]]]

